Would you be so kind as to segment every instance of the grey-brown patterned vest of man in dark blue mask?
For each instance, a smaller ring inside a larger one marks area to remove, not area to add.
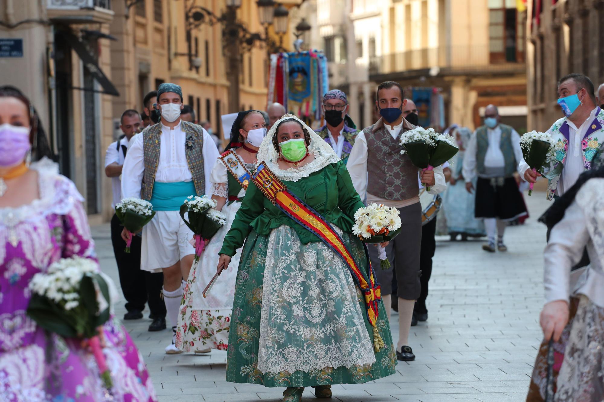
[[[388,200],[417,197],[417,167],[408,155],[400,155],[402,145],[386,127],[373,131],[374,126],[363,130],[367,140],[367,193]]]

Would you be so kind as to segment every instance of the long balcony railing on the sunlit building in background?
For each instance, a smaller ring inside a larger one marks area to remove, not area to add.
[[[489,45],[413,49],[371,57],[369,74],[393,74],[431,68],[498,71],[524,69],[524,53],[515,48],[504,53],[490,51]]]

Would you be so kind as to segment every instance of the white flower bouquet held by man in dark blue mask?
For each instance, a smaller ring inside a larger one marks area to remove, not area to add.
[[[411,162],[422,171],[444,164],[459,151],[451,135],[423,127],[401,133],[399,143],[403,145],[400,154],[406,153]],[[430,191],[429,185],[426,185],[426,190]]]

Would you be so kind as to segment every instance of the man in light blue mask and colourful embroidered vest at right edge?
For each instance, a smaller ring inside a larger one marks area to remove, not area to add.
[[[562,141],[565,150],[557,152],[556,162],[545,173],[548,176],[548,199],[562,196],[573,187],[579,175],[591,170],[604,150],[604,110],[596,106],[594,84],[583,74],[568,74],[558,83],[558,103],[565,117],[557,120],[547,132]],[[541,174],[528,168],[522,159],[518,172],[529,183]]]

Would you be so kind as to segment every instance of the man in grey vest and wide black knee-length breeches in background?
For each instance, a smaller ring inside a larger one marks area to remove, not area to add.
[[[496,106],[484,109],[484,126],[478,127],[466,148],[463,159],[463,177],[466,190],[474,191],[476,183],[475,216],[484,219],[488,241],[483,250],[507,251],[503,234],[507,223],[527,213],[513,174],[522,159],[520,136],[512,127],[500,123]],[[497,243],[495,243],[497,234]]]

